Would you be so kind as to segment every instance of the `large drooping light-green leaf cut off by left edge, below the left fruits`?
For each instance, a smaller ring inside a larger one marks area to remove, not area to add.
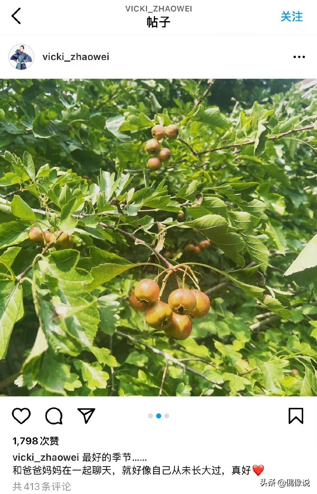
[[[24,316],[22,285],[0,282],[0,360],[4,359],[13,326]]]

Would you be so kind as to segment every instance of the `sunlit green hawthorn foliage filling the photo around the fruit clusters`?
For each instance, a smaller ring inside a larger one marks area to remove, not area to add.
[[[0,81],[1,392],[316,396],[316,116],[290,81]],[[182,342],[127,301],[166,251],[211,297]]]

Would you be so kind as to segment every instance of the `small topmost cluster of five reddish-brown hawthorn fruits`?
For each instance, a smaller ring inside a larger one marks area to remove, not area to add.
[[[162,161],[169,161],[172,156],[171,150],[169,148],[161,148],[161,143],[163,139],[176,139],[178,135],[178,127],[175,124],[163,127],[163,125],[154,125],[152,127],[153,139],[150,139],[145,144],[145,149],[152,158],[148,159],[147,166],[150,170],[158,170],[162,166]]]

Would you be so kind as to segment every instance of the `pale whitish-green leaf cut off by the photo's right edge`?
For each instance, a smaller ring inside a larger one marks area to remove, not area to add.
[[[317,235],[303,248],[284,276],[290,281],[295,281],[300,287],[317,280]]]

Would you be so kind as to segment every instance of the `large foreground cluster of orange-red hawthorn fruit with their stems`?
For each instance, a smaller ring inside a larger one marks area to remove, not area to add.
[[[167,269],[163,273],[168,273],[160,289],[156,280],[163,273],[160,273],[155,280],[145,278],[137,283],[132,290],[129,303],[133,309],[138,312],[145,313],[146,323],[154,329],[163,329],[163,331],[176,340],[184,340],[188,338],[192,330],[192,322],[190,318],[204,317],[208,314],[210,309],[209,297],[200,291],[199,285],[194,281],[197,288],[189,289],[177,288],[173,290],[168,297],[168,303],[163,302],[161,299],[163,290],[166,286],[167,278],[176,273],[176,270],[180,267],[185,268],[183,270],[184,277],[188,271],[190,271],[190,278],[194,281],[195,277],[193,271],[186,265],[178,265],[175,269]]]

